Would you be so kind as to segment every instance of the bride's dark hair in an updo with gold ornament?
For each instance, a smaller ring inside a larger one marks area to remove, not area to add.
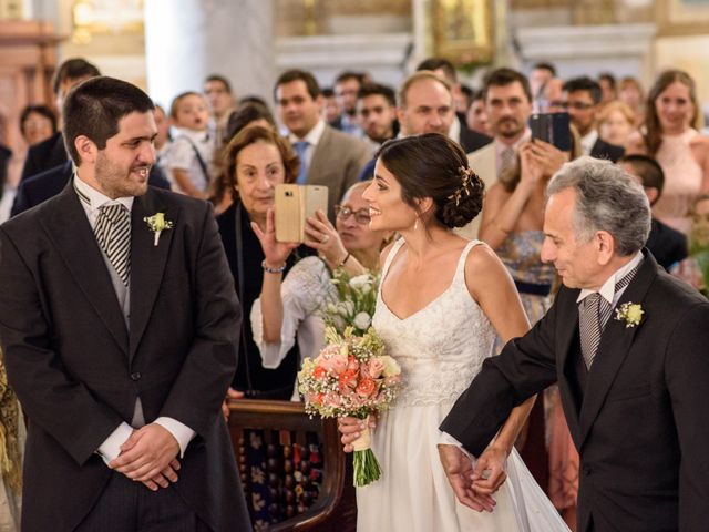
[[[425,133],[389,141],[377,158],[401,185],[401,198],[413,208],[415,200],[432,198],[433,216],[445,227],[463,227],[480,214],[485,185],[448,136]]]

